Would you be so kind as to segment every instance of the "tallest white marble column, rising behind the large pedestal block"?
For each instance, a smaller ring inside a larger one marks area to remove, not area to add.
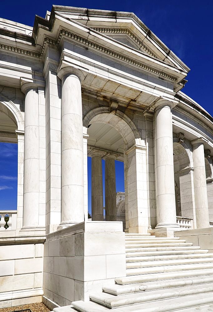
[[[84,221],[84,152],[80,76],[61,77],[61,226]]]

